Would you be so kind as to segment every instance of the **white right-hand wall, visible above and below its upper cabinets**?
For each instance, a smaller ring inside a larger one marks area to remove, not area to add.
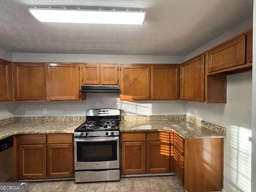
[[[252,27],[252,18],[188,54],[186,60]],[[224,139],[224,192],[251,191],[252,72],[227,76],[227,103],[186,102],[186,114],[227,128]]]

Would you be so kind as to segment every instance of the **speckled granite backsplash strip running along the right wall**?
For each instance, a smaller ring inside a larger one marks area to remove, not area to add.
[[[213,123],[209,123],[209,122],[206,122],[204,120],[200,120],[200,119],[191,117],[189,115],[186,116],[186,121],[192,122],[196,125],[202,126],[206,129],[209,129],[211,131],[215,131],[219,134],[222,134],[222,135],[226,136],[226,128],[225,127],[222,127],[222,126],[219,126],[219,125],[216,125],[216,124],[213,124]]]

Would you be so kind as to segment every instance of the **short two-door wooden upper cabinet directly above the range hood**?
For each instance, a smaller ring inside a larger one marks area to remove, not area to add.
[[[81,85],[118,85],[118,64],[81,64]]]

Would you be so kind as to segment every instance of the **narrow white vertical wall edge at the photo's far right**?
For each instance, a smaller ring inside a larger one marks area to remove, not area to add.
[[[256,28],[256,3],[253,5],[253,27]],[[252,56],[252,192],[256,192],[256,30],[253,31]]]

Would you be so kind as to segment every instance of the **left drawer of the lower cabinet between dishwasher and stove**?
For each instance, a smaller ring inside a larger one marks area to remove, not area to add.
[[[46,135],[20,135],[20,144],[45,144]]]

